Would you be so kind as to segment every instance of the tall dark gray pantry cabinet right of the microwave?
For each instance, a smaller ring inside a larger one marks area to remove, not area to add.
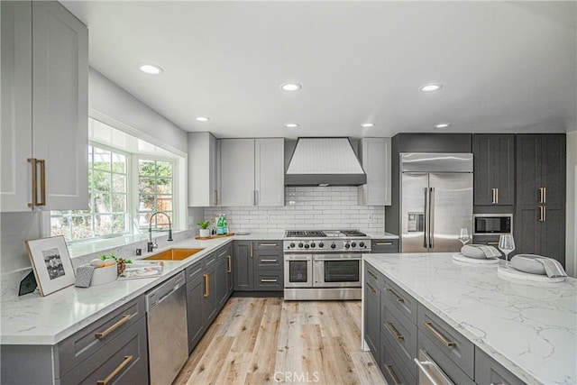
[[[515,253],[565,264],[566,140],[564,134],[517,135]]]

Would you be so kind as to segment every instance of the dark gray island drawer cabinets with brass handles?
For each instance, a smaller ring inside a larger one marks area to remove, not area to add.
[[[364,277],[364,340],[389,384],[419,382],[419,351],[454,384],[523,383],[366,262]]]

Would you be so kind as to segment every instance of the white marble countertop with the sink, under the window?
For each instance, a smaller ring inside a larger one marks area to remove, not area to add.
[[[69,286],[46,297],[41,297],[38,291],[22,297],[17,296],[17,288],[5,291],[0,304],[0,344],[58,344],[115,308],[168,280],[206,254],[232,242],[233,238],[188,239],[142,255],[145,258],[173,247],[204,249],[184,261],[165,261],[159,277],[115,280],[89,288]]]

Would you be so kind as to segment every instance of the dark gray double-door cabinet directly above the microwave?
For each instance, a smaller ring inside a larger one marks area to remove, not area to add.
[[[474,205],[514,205],[515,135],[476,133],[472,153]]]

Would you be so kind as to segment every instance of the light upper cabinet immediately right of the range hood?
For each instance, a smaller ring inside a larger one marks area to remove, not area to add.
[[[362,138],[359,158],[367,183],[359,186],[359,205],[390,205],[390,138]]]

